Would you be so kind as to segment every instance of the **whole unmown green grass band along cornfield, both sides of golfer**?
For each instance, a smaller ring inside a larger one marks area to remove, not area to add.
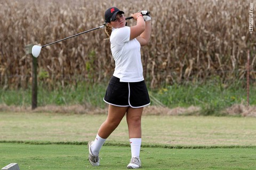
[[[76,86],[54,87],[54,90],[38,86],[38,106],[73,105],[82,104],[86,106],[105,108],[103,96],[106,92],[107,83],[90,84],[78,83]],[[149,86],[148,86],[149,87]],[[246,85],[242,82],[220,84],[217,80],[207,83],[190,83],[162,88],[150,89],[151,104],[162,103],[169,108],[189,107],[191,105],[202,108],[202,115],[218,115],[220,110],[233,104],[246,103]],[[251,84],[250,104],[256,104],[256,86]],[[31,89],[26,90],[2,90],[0,89],[0,104],[7,106],[30,106]]]

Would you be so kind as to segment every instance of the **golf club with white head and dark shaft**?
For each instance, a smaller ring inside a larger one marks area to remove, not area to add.
[[[149,14],[149,13],[150,13],[150,12],[147,11],[147,13],[146,13],[146,14],[143,14],[143,15],[147,15],[147,14]],[[133,17],[127,17],[127,18],[125,18],[125,20],[130,20],[130,19],[133,19]],[[40,52],[41,52],[41,49],[42,49],[43,47],[46,47],[46,46],[48,46],[48,45],[52,45],[52,44],[55,44],[55,43],[64,41],[64,40],[66,40],[66,39],[68,39],[68,38],[72,38],[72,37],[75,37],[75,36],[78,36],[78,35],[81,35],[81,34],[84,34],[84,33],[88,33],[88,32],[90,32],[90,31],[93,31],[93,30],[96,30],[96,29],[103,28],[103,27],[105,27],[105,25],[106,25],[106,23],[103,24],[103,25],[100,26],[100,27],[96,27],[96,28],[93,28],[93,29],[90,29],[90,30],[87,30],[87,31],[83,31],[82,33],[78,33],[78,34],[75,34],[75,35],[73,35],[73,36],[69,36],[69,37],[67,37],[67,38],[63,38],[63,39],[60,39],[60,40],[58,40],[58,41],[55,41],[55,42],[53,42],[53,43],[46,44],[46,45],[43,45],[43,46],[34,45],[34,46],[32,47],[32,55],[33,55],[35,58],[37,58],[37,57],[39,56],[39,54],[40,54]]]

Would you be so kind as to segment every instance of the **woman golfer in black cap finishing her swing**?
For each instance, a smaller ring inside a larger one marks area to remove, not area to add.
[[[88,143],[89,161],[99,166],[99,152],[108,136],[126,114],[132,158],[127,168],[141,167],[141,115],[143,107],[150,104],[143,78],[140,47],[147,45],[151,34],[151,17],[147,11],[134,13],[133,27],[125,26],[124,12],[110,7],[105,12],[106,34],[115,60],[115,71],[109,81],[104,101],[109,104],[108,116],[98,130],[94,141]]]

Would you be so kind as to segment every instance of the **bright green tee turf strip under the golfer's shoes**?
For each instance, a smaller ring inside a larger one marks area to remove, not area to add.
[[[101,165],[92,167],[86,145],[0,143],[0,165],[20,169],[125,169],[130,147],[103,146]],[[141,169],[256,169],[256,148],[141,148]]]

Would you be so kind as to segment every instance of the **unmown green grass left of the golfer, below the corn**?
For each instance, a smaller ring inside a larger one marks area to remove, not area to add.
[[[105,107],[103,96],[106,92],[105,85],[92,85],[81,83],[75,86],[65,88],[55,87],[55,90],[49,90],[43,85],[38,86],[37,103],[38,106],[49,104],[73,105],[73,104],[90,104],[94,107]],[[0,89],[0,103],[7,106],[30,106],[31,105],[31,88],[18,90]]]

